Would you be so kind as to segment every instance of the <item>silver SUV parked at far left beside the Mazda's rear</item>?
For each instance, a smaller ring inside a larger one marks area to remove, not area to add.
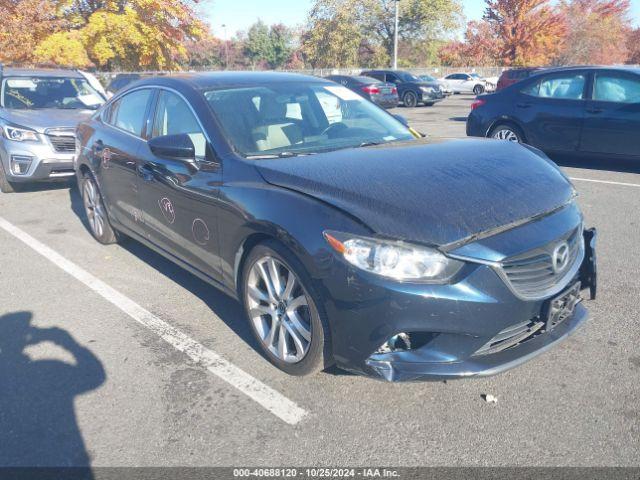
[[[73,177],[75,128],[105,98],[80,73],[0,67],[0,191]]]

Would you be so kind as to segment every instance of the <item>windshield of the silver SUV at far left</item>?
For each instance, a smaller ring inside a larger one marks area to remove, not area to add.
[[[84,78],[7,77],[2,82],[2,107],[91,109],[104,103]]]

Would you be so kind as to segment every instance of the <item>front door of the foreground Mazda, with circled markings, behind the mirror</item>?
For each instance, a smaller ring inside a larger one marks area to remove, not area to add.
[[[156,246],[219,279],[217,211],[222,170],[210,161],[210,146],[187,101],[160,90],[149,138],[177,134],[191,137],[199,168],[160,158],[147,143],[142,146],[138,174],[145,234]]]

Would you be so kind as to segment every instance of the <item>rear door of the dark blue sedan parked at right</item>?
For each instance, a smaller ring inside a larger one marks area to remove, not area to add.
[[[560,72],[523,84],[514,102],[515,117],[527,143],[545,151],[578,150],[586,112],[588,73]]]

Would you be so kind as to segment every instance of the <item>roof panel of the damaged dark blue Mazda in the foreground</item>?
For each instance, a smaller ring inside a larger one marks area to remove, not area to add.
[[[190,86],[197,90],[251,85],[269,85],[282,82],[331,83],[320,77],[282,72],[206,72],[179,73],[163,77],[150,77],[135,83],[136,86]]]

